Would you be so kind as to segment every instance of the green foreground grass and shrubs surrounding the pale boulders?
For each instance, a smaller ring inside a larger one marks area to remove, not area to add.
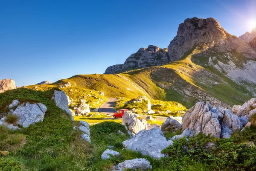
[[[116,122],[101,122],[90,126],[92,143],[89,144],[80,139],[80,131],[73,129],[79,123],[71,122],[68,114],[56,107],[52,99],[55,89],[36,91],[20,88],[0,93],[0,113],[8,112],[8,105],[15,99],[21,102],[41,102],[48,109],[43,122],[28,128],[11,131],[0,126],[1,171],[111,171],[118,163],[135,158],[148,159],[152,171],[256,169],[256,147],[253,145],[256,143],[255,128],[245,129],[230,139],[216,139],[200,134],[189,138],[189,141],[184,138],[175,140],[173,146],[163,151],[168,157],[160,160],[124,149],[122,142],[128,139],[127,131]],[[103,121],[102,117],[105,116],[95,117],[96,122],[99,119]],[[77,117],[76,120],[90,119]],[[93,123],[93,118],[91,121]],[[119,130],[124,134],[119,133]],[[217,148],[206,148],[208,142]],[[100,157],[107,145],[113,145],[113,150],[120,153],[119,157],[102,160]]]

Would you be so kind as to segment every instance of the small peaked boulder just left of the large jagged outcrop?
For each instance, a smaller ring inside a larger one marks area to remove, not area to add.
[[[178,122],[175,117],[169,116],[165,122],[161,125],[161,130],[163,133],[177,133],[182,129],[180,122]]]

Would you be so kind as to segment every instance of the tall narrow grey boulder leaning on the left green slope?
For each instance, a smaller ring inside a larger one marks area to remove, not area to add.
[[[56,106],[67,112],[70,116],[70,119],[72,121],[75,121],[72,116],[72,112],[68,108],[69,98],[67,97],[64,91],[54,90],[52,99],[55,101]]]

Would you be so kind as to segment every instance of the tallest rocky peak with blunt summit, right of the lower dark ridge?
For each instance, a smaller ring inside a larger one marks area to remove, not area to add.
[[[230,52],[235,50],[247,58],[256,59],[256,52],[250,45],[226,32],[213,18],[194,17],[181,23],[177,36],[168,46],[170,61],[180,60],[183,56],[207,50]],[[197,50],[197,52],[193,52]]]

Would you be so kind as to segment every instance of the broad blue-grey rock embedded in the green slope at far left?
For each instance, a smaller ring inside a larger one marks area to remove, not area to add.
[[[27,128],[31,124],[34,124],[39,121],[43,121],[46,110],[47,108],[44,106],[44,104],[41,104],[41,103],[30,104],[29,102],[27,102],[26,104],[25,103],[20,104],[15,109],[13,114],[18,116],[19,118],[18,124]]]

